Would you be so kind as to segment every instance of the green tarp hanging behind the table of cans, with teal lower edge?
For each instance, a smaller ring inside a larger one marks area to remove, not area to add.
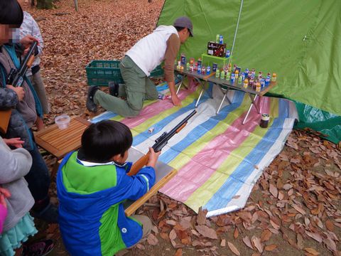
[[[191,18],[195,37],[180,49],[188,58],[206,53],[217,34],[231,50],[240,4],[166,0],[158,25]],[[340,0],[244,0],[232,56],[232,65],[242,70],[277,73],[271,94],[303,103],[299,126],[323,132],[335,143],[341,139],[340,10]]]

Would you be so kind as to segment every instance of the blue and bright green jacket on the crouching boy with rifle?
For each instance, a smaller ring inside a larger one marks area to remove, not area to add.
[[[143,196],[155,183],[155,170],[146,166],[128,176],[131,163],[85,163],[75,151],[60,164],[60,232],[71,255],[112,256],[142,238],[141,223],[126,217],[122,202]]]

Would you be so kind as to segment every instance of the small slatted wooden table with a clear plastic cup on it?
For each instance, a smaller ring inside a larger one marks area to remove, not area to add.
[[[52,177],[58,170],[58,160],[63,159],[68,152],[80,148],[82,134],[90,124],[91,122],[80,117],[72,117],[66,129],[61,130],[57,124],[53,124],[34,134],[36,144],[57,158]]]

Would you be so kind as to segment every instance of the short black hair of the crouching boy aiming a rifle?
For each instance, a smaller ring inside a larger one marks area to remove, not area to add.
[[[79,157],[85,161],[106,163],[117,154],[123,157],[132,143],[133,135],[126,124],[104,120],[85,129]]]

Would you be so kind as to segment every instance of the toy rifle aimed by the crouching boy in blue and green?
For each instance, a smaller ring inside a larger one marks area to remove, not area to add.
[[[185,117],[185,119],[183,119],[173,129],[171,129],[171,132],[163,132],[163,134],[161,134],[161,136],[158,137],[158,139],[155,140],[155,144],[153,144],[153,146],[152,146],[154,151],[156,151],[156,152],[161,151],[163,146],[166,146],[166,144],[168,143],[168,140],[171,139],[171,137],[173,137],[175,134],[180,132],[180,130],[183,129],[183,127],[186,126],[186,124],[188,122],[188,119],[190,119],[190,117],[193,117],[193,115],[195,113],[196,113],[196,111],[193,110],[193,112],[188,114],[188,116]],[[149,159],[149,154],[150,153],[148,151],[147,154],[142,156],[139,160],[137,160],[135,162],[135,164],[133,164],[133,166],[131,166],[131,169],[130,169],[130,171],[128,173],[129,176],[136,175],[140,171],[140,169],[147,164],[148,159]]]

